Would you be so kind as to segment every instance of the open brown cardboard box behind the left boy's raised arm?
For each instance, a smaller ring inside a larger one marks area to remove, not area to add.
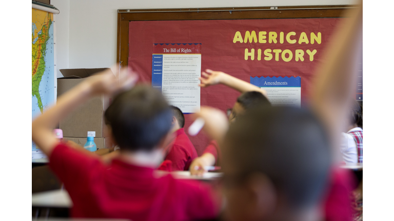
[[[72,87],[81,83],[84,78],[108,68],[100,69],[62,69],[64,77],[57,78],[57,96],[61,96]],[[95,137],[108,137],[104,122],[104,113],[109,106],[110,98],[96,97],[87,101],[70,113],[59,123],[64,137],[86,138],[88,131],[94,131]]]

